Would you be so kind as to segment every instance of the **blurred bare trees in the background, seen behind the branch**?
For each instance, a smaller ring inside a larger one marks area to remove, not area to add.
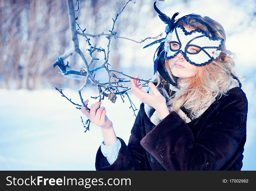
[[[118,13],[125,2],[126,0],[81,1],[81,11],[75,13],[79,17],[81,26],[87,28],[87,33],[99,34],[111,30],[111,18]],[[148,20],[156,17],[152,6],[153,2],[154,0],[137,0],[136,6],[127,6],[115,25],[117,35],[134,40],[144,38],[144,33],[141,33],[141,31],[148,26]],[[177,4],[177,1],[173,0],[172,2]],[[181,1],[181,3],[186,2],[193,3],[191,0]],[[248,17],[242,23],[234,26],[232,33],[246,30],[248,25],[255,25],[255,0],[235,0],[232,3],[248,13]],[[77,87],[74,86],[78,85],[79,87],[83,84],[83,81],[63,78],[63,76],[57,74],[58,69],[52,69],[51,65],[55,62],[56,57],[72,45],[66,0],[1,0],[0,26],[1,88],[33,90],[58,85],[75,89]],[[82,38],[83,36],[79,36],[79,39]],[[100,36],[92,38],[91,42],[99,45],[106,44],[107,39]],[[138,66],[138,56],[140,55],[137,49],[125,49],[129,43],[127,40],[120,40],[119,38],[112,40],[110,51],[115,52],[115,54],[111,54],[109,63],[113,69],[120,70],[122,65],[126,64],[125,51],[129,51],[130,61],[134,60],[136,62],[131,66]],[[85,57],[89,59],[88,52],[86,52],[88,44],[83,40],[80,47],[85,53]],[[107,49],[107,47],[103,48]],[[104,59],[101,52],[95,52],[95,57],[99,57],[101,60]],[[83,62],[77,54],[67,60],[74,68],[83,67]],[[97,67],[97,63],[99,62],[93,62],[92,68]],[[117,73],[114,72],[114,74]],[[103,80],[103,77],[106,76],[102,75],[100,80]]]

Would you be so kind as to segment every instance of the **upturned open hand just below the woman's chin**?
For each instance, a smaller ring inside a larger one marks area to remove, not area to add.
[[[135,76],[135,78],[138,77],[139,75]],[[167,108],[165,97],[163,97],[163,95],[157,90],[157,87],[152,82],[148,84],[153,94],[142,91],[141,88],[143,85],[141,84],[138,87],[138,83],[139,80],[131,78],[131,90],[143,103],[150,105],[157,111],[161,111],[163,108]]]

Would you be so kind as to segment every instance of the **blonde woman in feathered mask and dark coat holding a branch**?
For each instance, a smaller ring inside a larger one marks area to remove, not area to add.
[[[131,79],[142,103],[128,145],[116,137],[105,108],[97,109],[100,102],[81,109],[102,129],[96,170],[241,170],[248,101],[223,27],[195,14],[170,19],[155,3],[168,24],[166,38],[146,46],[163,41],[154,61],[157,82],[143,92]]]

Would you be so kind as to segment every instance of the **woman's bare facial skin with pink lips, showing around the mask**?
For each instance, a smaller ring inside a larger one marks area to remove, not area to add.
[[[187,28],[187,27],[184,27],[184,28],[188,32],[194,30],[193,28]],[[175,46],[178,46],[178,45],[175,43],[172,43],[171,46],[175,49]],[[198,50],[196,49],[196,47],[194,48],[195,49],[193,49],[192,47],[191,50],[189,51],[197,52]],[[168,59],[167,63],[169,64],[172,74],[180,78],[179,81],[181,81],[182,79],[185,80],[186,78],[194,76],[196,74],[196,69],[199,67],[199,66],[190,64],[188,61],[186,61],[183,54],[180,52],[174,58]]]

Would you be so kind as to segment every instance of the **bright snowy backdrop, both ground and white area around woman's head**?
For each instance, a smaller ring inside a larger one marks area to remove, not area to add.
[[[141,10],[145,13],[147,10],[152,10],[154,1],[147,1],[149,3],[143,4],[140,8],[136,7],[138,2],[137,0],[135,4],[129,5],[131,10]],[[246,80],[242,82],[242,89],[246,93],[249,103],[247,141],[243,153],[242,170],[256,170],[256,106],[253,99],[255,97],[255,74],[253,73],[255,71],[255,19],[250,26],[246,25],[250,19],[248,18],[249,11],[255,10],[255,1],[191,0],[184,6],[184,3],[166,0],[164,2],[157,1],[157,6],[169,16],[179,12],[178,18],[189,13],[207,15],[220,22],[225,28],[227,48],[237,54],[236,72],[247,76]],[[80,9],[82,11],[82,7]],[[125,10],[122,14],[129,16]],[[67,14],[63,13],[63,17],[66,16]],[[111,18],[114,16],[115,13],[108,19],[109,28]],[[83,23],[86,25],[86,20]],[[132,38],[138,40],[156,36],[164,31],[164,28],[165,24],[156,16],[147,20],[147,23],[141,24],[141,29],[135,31]],[[99,33],[101,32],[99,31]],[[122,36],[131,38],[129,31],[127,33],[120,31],[120,33]],[[81,43],[79,42],[81,47],[86,46],[86,43],[82,42],[83,39],[79,37],[79,40],[81,40]],[[103,43],[103,41],[101,42]],[[121,42],[119,47],[119,51],[122,51],[120,71],[133,76],[139,74],[144,79],[153,77],[152,60],[157,46],[142,49],[152,41],[146,41],[144,44],[125,40]],[[131,54],[135,56],[136,60],[131,58]],[[62,76],[62,78],[65,77]],[[44,84],[44,81],[41,83]],[[129,84],[127,83],[127,85]],[[85,129],[80,116],[84,120],[86,117],[74,105],[61,97],[61,94],[54,89],[54,85],[48,85],[48,88],[36,88],[33,91],[16,90],[12,87],[10,89],[0,89],[0,170],[95,170],[95,155],[102,141],[101,130],[98,126],[90,124],[90,131],[83,133]],[[75,103],[80,103],[77,90],[77,86],[64,87],[63,93],[68,98],[72,98]],[[143,90],[146,91],[146,88]],[[139,109],[140,100],[132,95],[130,90],[128,93]],[[96,95],[97,90],[91,87],[82,91],[83,99],[89,99],[89,106],[96,102],[90,96]],[[118,97],[115,104],[104,99],[102,106],[106,108],[106,115],[113,122],[116,135],[128,143],[135,116],[129,109],[130,104],[127,97],[125,103],[122,103]]]

